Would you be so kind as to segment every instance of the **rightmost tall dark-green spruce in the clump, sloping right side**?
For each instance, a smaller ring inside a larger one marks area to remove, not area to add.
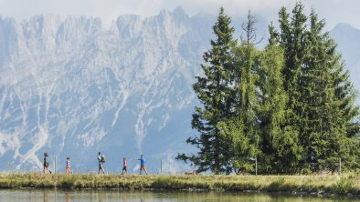
[[[355,146],[359,131],[355,122],[358,116],[355,92],[341,56],[336,53],[334,40],[323,32],[324,25],[324,20],[319,20],[312,9],[306,41],[309,55],[301,78],[302,120],[305,120],[302,138],[308,139],[305,141],[308,145],[304,145],[305,162],[312,171],[335,171],[339,158],[343,159],[343,169],[356,167],[355,154],[349,147]],[[342,97],[337,94],[339,90]]]

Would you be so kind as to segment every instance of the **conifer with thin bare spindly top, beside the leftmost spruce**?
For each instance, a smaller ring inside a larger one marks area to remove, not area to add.
[[[255,170],[251,159],[259,156],[260,136],[256,109],[259,99],[256,93],[256,74],[259,66],[260,51],[255,47],[256,19],[249,12],[247,22],[241,26],[243,35],[241,43],[233,48],[234,66],[231,69],[233,77],[232,96],[229,101],[232,106],[230,119],[222,123],[221,134],[228,145],[228,160],[232,171]]]

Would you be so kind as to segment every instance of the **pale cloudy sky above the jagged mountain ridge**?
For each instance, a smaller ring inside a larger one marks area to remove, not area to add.
[[[16,20],[46,14],[97,16],[106,27],[119,15],[157,15],[163,9],[172,11],[180,5],[188,15],[216,15],[219,7],[224,6],[226,13],[233,17],[244,16],[251,10],[269,21],[277,21],[281,6],[288,7],[290,12],[295,3],[296,0],[0,0],[0,15]],[[326,20],[329,30],[338,23],[360,29],[360,0],[302,0],[302,3],[307,15],[315,8]]]

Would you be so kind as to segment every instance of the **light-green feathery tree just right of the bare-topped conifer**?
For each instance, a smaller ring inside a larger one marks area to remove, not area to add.
[[[271,26],[270,26],[271,30]],[[267,45],[261,53],[258,69],[259,129],[261,133],[262,173],[291,173],[298,166],[302,148],[291,125],[285,125],[289,97],[284,90],[284,52],[280,46]]]

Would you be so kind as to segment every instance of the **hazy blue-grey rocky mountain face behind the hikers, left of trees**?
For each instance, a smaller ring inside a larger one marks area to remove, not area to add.
[[[0,168],[39,170],[45,151],[81,172],[98,151],[111,172],[140,153],[153,172],[173,162],[192,134],[191,85],[211,35],[213,22],[199,35],[197,21],[181,8],[122,15],[109,30],[92,17],[1,17]]]

